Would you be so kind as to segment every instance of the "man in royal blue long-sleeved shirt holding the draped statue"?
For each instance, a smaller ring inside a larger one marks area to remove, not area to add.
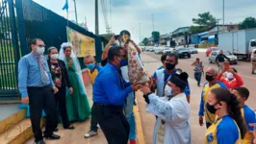
[[[139,84],[128,84],[120,70],[121,47],[112,47],[108,52],[108,63],[98,73],[93,85],[92,114],[96,116],[108,143],[125,144],[129,137],[129,124],[123,115],[126,97],[140,88]]]

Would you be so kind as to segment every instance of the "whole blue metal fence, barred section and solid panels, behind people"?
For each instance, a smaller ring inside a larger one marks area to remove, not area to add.
[[[14,4],[15,3],[15,4]],[[17,63],[31,52],[30,40],[41,38],[46,47],[60,48],[67,41],[66,26],[94,38],[95,60],[101,60],[101,39],[32,0],[3,0],[0,5],[0,98],[19,95]],[[80,59],[83,67],[83,59]]]

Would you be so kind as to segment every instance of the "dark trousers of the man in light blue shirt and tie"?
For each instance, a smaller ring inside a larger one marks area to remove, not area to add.
[[[43,138],[40,129],[42,109],[44,109],[46,114],[46,127],[43,132],[44,135],[51,135],[58,125],[54,94],[51,85],[43,87],[28,87],[28,94],[32,129],[36,139],[35,141],[38,142]]]

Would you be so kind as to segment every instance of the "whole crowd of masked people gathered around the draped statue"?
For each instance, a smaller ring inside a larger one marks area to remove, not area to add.
[[[86,138],[97,135],[100,128],[110,144],[126,144],[128,141],[136,144],[133,106],[138,90],[143,93],[146,110],[156,116],[152,143],[192,144],[189,74],[178,68],[176,55],[166,54],[161,58],[163,65],[148,76],[148,82],[131,84],[130,61],[125,47],[128,42],[134,45],[141,58],[140,48],[126,30],[111,37],[103,51],[101,65],[90,55],[84,58],[92,84],[93,104],[90,108],[72,44],[63,43],[60,52],[56,47],[48,48],[48,58],[45,58],[44,42],[39,38],[32,40],[32,52],[18,63],[18,87],[22,103],[28,104],[37,144],[45,143],[43,137],[61,138],[54,133],[58,131],[57,108],[65,130],[74,130],[73,122],[91,116]],[[194,79],[201,86],[203,62],[196,59],[192,66]],[[205,123],[207,128],[204,143],[252,143],[256,117],[255,112],[245,105],[250,93],[243,87],[238,71],[224,66],[219,72],[208,68],[205,79],[207,83],[202,88],[198,112],[199,126]],[[43,112],[47,119],[44,132],[40,129]]]

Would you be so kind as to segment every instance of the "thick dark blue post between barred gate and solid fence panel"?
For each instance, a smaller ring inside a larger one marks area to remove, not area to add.
[[[25,25],[24,25],[22,3],[23,3],[23,0],[15,0],[21,56],[25,56],[28,54],[28,46],[27,46],[26,31],[25,31]]]

